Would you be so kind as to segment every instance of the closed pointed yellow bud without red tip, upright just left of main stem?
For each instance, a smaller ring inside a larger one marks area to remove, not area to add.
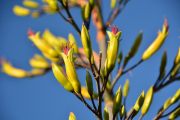
[[[86,57],[89,59],[89,61],[91,61],[91,63],[94,63],[90,36],[84,24],[82,25],[82,30],[81,30],[81,40]]]

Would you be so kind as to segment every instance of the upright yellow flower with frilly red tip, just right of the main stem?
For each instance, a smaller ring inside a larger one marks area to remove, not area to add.
[[[116,63],[118,48],[119,48],[119,38],[121,36],[121,32],[117,27],[112,27],[112,32],[107,31],[109,36],[109,43],[107,47],[107,58],[105,61],[105,73],[110,73]]]

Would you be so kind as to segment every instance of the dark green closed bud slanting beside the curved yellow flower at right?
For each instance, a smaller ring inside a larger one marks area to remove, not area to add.
[[[140,33],[137,35],[137,37],[136,37],[136,39],[135,39],[135,41],[134,41],[134,43],[133,43],[130,51],[128,52],[128,54],[126,55],[126,57],[125,57],[125,59],[124,59],[124,65],[123,65],[124,67],[127,65],[127,63],[129,62],[129,60],[130,60],[131,58],[133,58],[134,55],[137,53],[137,51],[138,51],[138,49],[139,49],[139,46],[140,46],[140,44],[141,44],[142,38],[143,38],[143,33],[140,32]]]

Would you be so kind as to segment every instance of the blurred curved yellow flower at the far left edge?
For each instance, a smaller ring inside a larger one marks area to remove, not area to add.
[[[15,78],[24,78],[28,76],[28,73],[25,70],[18,69],[13,67],[9,62],[2,60],[2,72],[5,74],[15,77]]]

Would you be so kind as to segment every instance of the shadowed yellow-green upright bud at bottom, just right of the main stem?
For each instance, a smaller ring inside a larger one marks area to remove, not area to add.
[[[121,87],[118,88],[113,101],[113,115],[119,112],[121,107],[122,92]]]

